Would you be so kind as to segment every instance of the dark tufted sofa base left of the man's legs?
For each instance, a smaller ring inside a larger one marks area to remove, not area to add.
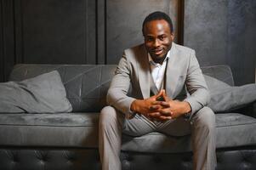
[[[1,148],[1,170],[96,170],[100,169],[97,150],[58,148]]]

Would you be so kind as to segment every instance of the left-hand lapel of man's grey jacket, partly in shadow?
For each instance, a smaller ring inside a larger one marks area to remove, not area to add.
[[[141,93],[143,95],[143,98],[149,98],[150,97],[150,83],[151,83],[151,70],[149,65],[149,59],[148,54],[145,49],[145,45],[143,45],[141,51],[141,54],[138,56],[137,59],[137,71],[139,75],[139,86],[141,89]]]

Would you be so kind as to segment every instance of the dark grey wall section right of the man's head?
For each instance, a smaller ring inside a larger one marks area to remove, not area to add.
[[[236,85],[255,82],[255,0],[186,0],[184,20],[201,65],[230,65]]]

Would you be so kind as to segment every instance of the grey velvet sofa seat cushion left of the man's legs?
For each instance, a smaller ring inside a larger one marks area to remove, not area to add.
[[[0,114],[0,144],[98,147],[99,113]]]

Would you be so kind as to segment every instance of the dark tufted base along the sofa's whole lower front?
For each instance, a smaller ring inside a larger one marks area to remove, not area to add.
[[[139,154],[122,152],[122,170],[191,170],[191,152],[183,154]],[[218,150],[217,170],[256,169],[255,148]],[[98,150],[58,148],[0,148],[1,170],[99,170]],[[171,168],[170,168],[171,167]]]

